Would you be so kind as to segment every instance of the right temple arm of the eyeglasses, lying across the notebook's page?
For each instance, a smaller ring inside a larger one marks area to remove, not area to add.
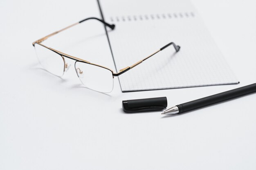
[[[164,48],[166,48],[166,47],[168,47],[168,46],[171,46],[171,45],[173,45],[173,47],[175,48],[176,52],[178,52],[178,51],[180,50],[180,46],[177,46],[174,42],[171,42],[171,43],[167,44],[166,46],[163,46],[162,48],[160,48],[159,50],[157,50],[157,51],[154,52],[153,54],[150,54],[148,57],[146,57],[146,58],[144,58],[144,59],[138,61],[137,63],[134,63],[134,64],[131,65],[131,66],[128,66],[128,67],[126,67],[126,68],[123,68],[123,69],[119,70],[118,73],[113,73],[113,76],[119,76],[119,75],[121,75],[121,74],[127,72],[128,70],[130,70],[130,69],[134,68],[135,66],[139,65],[140,63],[142,63],[143,61],[145,61],[145,60],[148,59],[149,57],[152,57],[152,56],[155,55],[157,52],[162,51],[162,50],[164,50]]]

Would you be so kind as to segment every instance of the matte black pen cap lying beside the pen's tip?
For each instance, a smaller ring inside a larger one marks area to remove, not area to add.
[[[125,112],[163,110],[165,107],[167,107],[167,98],[157,97],[135,100],[123,100],[122,107]]]

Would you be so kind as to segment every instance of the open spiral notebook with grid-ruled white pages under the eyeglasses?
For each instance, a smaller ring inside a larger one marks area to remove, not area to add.
[[[236,84],[238,80],[189,0],[101,0],[116,70],[166,44],[143,63],[121,74],[122,92]]]

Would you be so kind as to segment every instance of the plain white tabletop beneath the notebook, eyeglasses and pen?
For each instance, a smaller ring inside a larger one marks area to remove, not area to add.
[[[171,107],[256,82],[255,1],[192,2],[239,85],[121,93],[115,81],[108,95],[79,88],[74,68],[63,79],[39,69],[31,43],[99,16],[96,2],[1,1],[0,169],[254,170],[256,94],[173,117],[121,111],[121,100],[167,96]],[[80,35],[92,46],[60,50],[84,59],[105,54],[100,61],[114,68],[104,38],[86,37],[89,30],[101,33],[101,24],[83,26]]]

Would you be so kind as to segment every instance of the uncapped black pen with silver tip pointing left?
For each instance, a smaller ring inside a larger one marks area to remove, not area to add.
[[[222,102],[225,100],[229,100],[231,98],[236,98],[236,97],[243,96],[245,94],[250,94],[253,92],[256,92],[256,83],[243,86],[237,89],[229,90],[227,92],[222,92],[222,93],[214,94],[212,96],[182,103],[180,105],[176,105],[174,107],[171,107],[170,109],[167,109],[162,114],[166,115],[166,114],[184,113],[186,111],[191,111],[193,109],[198,109],[200,107]]]

